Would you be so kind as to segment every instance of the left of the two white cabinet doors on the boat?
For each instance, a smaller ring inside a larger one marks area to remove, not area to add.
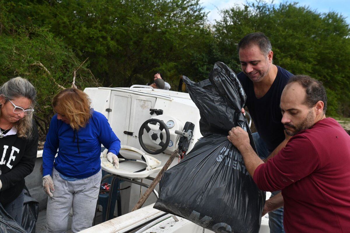
[[[129,130],[130,109],[132,94],[112,91],[111,105],[112,111],[108,121],[112,130],[121,141],[121,145],[128,145],[128,135],[124,131]]]

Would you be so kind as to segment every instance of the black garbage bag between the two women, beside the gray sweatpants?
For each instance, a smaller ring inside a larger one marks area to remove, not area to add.
[[[27,187],[24,188],[24,203],[22,226],[28,233],[35,233],[35,224],[39,215],[39,202],[30,196]]]

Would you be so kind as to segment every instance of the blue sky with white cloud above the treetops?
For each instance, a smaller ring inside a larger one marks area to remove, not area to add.
[[[271,2],[271,0],[268,0]],[[202,6],[205,8],[208,14],[208,20],[214,23],[215,20],[219,20],[219,11],[222,9],[230,8],[235,4],[242,5],[246,0],[200,0]],[[275,0],[275,4],[279,4],[281,0]],[[290,2],[290,1],[288,1]],[[293,2],[293,1],[292,1]],[[311,9],[315,9],[318,12],[329,12],[330,10],[341,13],[347,17],[346,21],[350,23],[350,3],[349,0],[300,0],[299,6],[310,6]]]

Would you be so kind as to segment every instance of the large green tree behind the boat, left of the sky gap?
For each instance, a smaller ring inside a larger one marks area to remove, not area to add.
[[[16,2],[10,7],[18,24],[62,36],[107,86],[143,84],[161,71],[174,88],[180,74],[208,74],[214,41],[198,0]]]

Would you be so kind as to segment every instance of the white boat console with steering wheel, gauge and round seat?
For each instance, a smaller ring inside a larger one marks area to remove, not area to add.
[[[101,167],[109,173],[103,180],[116,178],[109,180],[111,187],[114,180],[126,181],[120,182],[121,213],[128,213],[145,190],[140,186],[151,184],[170,155],[179,150],[183,158],[202,137],[199,110],[188,93],[148,86],[86,88],[84,92],[121,141],[119,169],[114,169],[103,153]],[[179,161],[175,159],[170,167]],[[156,201],[156,190],[158,186],[145,205]]]

